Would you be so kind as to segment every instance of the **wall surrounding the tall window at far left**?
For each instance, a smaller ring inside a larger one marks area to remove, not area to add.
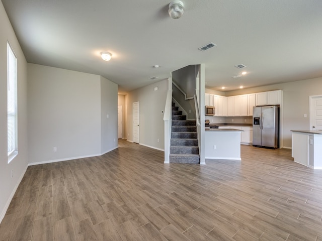
[[[0,222],[28,165],[27,62],[0,1]],[[18,58],[18,156],[8,164],[7,40]],[[13,170],[14,176],[11,177]]]

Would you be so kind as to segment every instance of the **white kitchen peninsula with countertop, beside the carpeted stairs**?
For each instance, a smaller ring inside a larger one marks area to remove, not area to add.
[[[209,129],[205,131],[205,159],[240,159],[242,130]]]

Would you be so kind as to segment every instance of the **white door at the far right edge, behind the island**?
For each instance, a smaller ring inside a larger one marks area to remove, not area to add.
[[[322,95],[310,96],[310,130],[322,130]]]

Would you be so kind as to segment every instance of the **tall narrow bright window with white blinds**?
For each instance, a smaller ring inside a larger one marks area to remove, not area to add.
[[[8,163],[18,155],[17,145],[17,57],[7,43],[8,64]]]

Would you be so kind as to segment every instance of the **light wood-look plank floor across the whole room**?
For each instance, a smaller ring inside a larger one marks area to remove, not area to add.
[[[322,171],[290,150],[241,146],[242,161],[164,164],[119,141],[101,157],[31,166],[0,240],[322,240]]]

